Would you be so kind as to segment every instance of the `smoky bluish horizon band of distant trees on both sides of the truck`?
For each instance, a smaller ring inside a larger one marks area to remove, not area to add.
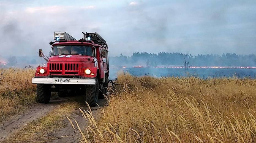
[[[68,55],[68,54],[67,54]],[[185,59],[184,59],[185,58]],[[167,60],[167,61],[166,61]],[[180,66],[182,62],[187,60],[192,67],[255,67],[256,55],[254,53],[248,55],[238,55],[235,53],[218,54],[198,54],[190,55],[179,52],[160,52],[147,53],[136,52],[130,56],[120,54],[119,56],[110,56],[110,65],[113,66],[142,66],[142,67],[158,67],[158,66]],[[5,67],[25,67],[28,65],[45,65],[47,62],[39,56],[5,56],[0,57],[0,66]]]

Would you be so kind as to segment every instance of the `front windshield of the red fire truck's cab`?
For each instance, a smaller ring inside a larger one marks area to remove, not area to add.
[[[92,55],[91,46],[54,46],[51,56],[55,55]]]

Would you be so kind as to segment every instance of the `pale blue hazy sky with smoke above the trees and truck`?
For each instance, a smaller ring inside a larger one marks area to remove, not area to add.
[[[256,54],[256,1],[0,0],[0,56],[48,52],[53,31],[96,31],[110,56]]]

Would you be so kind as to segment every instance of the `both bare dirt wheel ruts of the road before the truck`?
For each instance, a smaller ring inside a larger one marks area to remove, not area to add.
[[[4,119],[4,121],[0,124],[0,142],[4,141],[6,138],[11,136],[16,131],[22,129],[28,123],[35,121],[36,119],[47,115],[51,110],[55,109],[58,106],[61,106],[62,103],[73,100],[75,97],[72,98],[57,98],[55,100],[50,100],[48,104],[35,104],[34,106],[30,107],[29,109],[24,110],[22,113],[15,114],[13,116],[9,116]],[[98,101],[99,106],[104,106],[105,99]],[[88,107],[82,107],[83,110],[88,110]],[[92,107],[93,115],[95,116],[96,120],[101,117],[101,112],[99,107]],[[70,119],[76,119],[79,123],[81,128],[85,127],[87,122],[81,116],[81,112],[79,109],[76,109]],[[59,138],[60,136],[69,135],[76,137],[73,128],[71,127],[68,120],[64,120],[64,128],[61,130],[57,130],[53,136],[55,136],[55,140],[52,142],[78,142],[77,138],[73,137],[64,137]]]

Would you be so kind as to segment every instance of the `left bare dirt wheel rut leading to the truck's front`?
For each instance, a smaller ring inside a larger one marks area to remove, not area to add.
[[[59,98],[57,100],[50,100],[48,104],[37,103],[26,109],[22,113],[6,117],[0,124],[0,142],[12,135],[13,132],[22,129],[29,122],[35,121],[41,116],[46,115],[51,110],[55,109],[59,104],[71,98]]]

